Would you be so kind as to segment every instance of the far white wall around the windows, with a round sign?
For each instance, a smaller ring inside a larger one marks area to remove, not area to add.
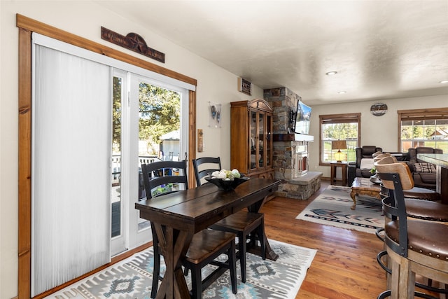
[[[306,103],[306,99],[303,99],[303,101]],[[370,106],[378,102],[387,105],[388,111],[384,116],[374,116],[370,113]],[[447,106],[448,95],[312,106],[309,134],[314,136],[314,142],[309,144],[309,170],[322,172],[323,176],[330,177],[330,167],[319,166],[319,115],[361,113],[360,145],[379,146],[383,148],[383,151],[399,151],[398,110],[429,109]]]

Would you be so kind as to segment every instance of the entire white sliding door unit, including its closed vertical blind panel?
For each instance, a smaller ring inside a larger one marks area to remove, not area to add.
[[[195,86],[39,34],[31,51],[34,296],[151,241],[139,169],[187,157]]]

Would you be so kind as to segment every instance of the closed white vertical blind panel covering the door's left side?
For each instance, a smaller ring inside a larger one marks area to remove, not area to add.
[[[111,68],[35,46],[31,295],[109,263]]]

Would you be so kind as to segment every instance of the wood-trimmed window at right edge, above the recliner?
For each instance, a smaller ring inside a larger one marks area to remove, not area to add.
[[[442,148],[448,153],[448,108],[399,110],[398,136],[403,153],[418,146]]]

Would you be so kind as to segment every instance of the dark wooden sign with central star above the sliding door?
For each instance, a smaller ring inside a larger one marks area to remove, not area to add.
[[[113,32],[112,30],[101,27],[101,38],[104,39],[104,41],[110,41],[118,46],[122,46],[123,48],[127,48],[141,55],[145,55],[153,60],[157,60],[158,62],[165,63],[165,53],[149,48],[143,37],[139,36],[137,33],[131,32],[124,36]]]

